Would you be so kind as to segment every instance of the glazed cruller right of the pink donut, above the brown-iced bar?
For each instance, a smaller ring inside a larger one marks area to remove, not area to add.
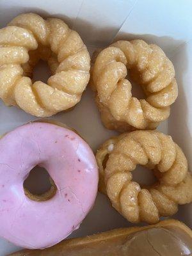
[[[171,136],[157,131],[134,131],[106,141],[96,155],[99,189],[127,220],[156,223],[192,201],[188,162]],[[132,181],[136,164],[153,169],[158,182],[143,186]]]

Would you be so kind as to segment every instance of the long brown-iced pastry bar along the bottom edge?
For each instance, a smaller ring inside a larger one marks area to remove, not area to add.
[[[191,255],[192,232],[177,220],[147,227],[119,228],[62,241],[52,248],[22,250],[12,256],[180,256]]]

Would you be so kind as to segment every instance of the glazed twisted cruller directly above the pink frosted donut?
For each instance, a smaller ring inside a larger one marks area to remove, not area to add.
[[[52,76],[31,81],[39,60]],[[90,55],[79,34],[61,19],[24,13],[0,29],[0,98],[34,116],[52,116],[72,108],[90,78]]]

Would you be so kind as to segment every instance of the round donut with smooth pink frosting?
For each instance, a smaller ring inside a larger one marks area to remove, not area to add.
[[[56,184],[44,202],[31,200],[23,182],[36,165]],[[46,248],[67,237],[92,209],[97,163],[91,148],[65,127],[34,122],[0,140],[0,236],[24,248]]]

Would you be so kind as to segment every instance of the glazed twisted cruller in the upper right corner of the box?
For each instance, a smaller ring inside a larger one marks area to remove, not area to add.
[[[93,57],[92,88],[103,124],[125,132],[156,129],[170,115],[178,88],[172,61],[155,44],[143,40],[118,41]],[[132,85],[140,84],[146,99],[132,97]]]

